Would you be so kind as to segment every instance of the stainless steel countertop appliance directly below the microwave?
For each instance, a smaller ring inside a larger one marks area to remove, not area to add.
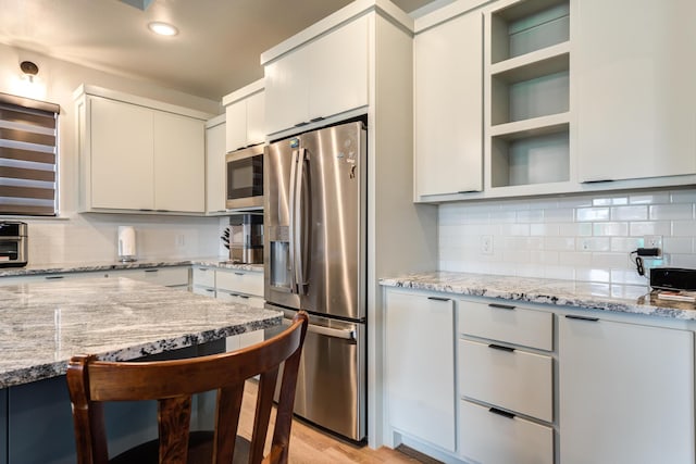
[[[245,213],[229,216],[229,227],[222,239],[229,249],[229,261],[233,263],[263,263],[263,214]]]

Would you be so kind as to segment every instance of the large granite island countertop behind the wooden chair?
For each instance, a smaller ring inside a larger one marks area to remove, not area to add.
[[[54,377],[71,356],[125,361],[281,324],[282,313],[128,278],[0,286],[0,388]]]

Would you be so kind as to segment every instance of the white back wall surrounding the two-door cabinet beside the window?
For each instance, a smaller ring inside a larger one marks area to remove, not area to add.
[[[29,230],[29,265],[111,261],[116,258],[116,228],[136,228],[140,259],[186,259],[215,256],[220,250],[220,220],[121,214],[78,214],[77,150],[73,91],[91,84],[166,103],[221,114],[212,101],[136,80],[91,70],[38,53],[0,45],[0,92],[20,95],[20,62],[30,60],[39,66],[38,93],[24,95],[58,103],[60,218],[23,217]],[[127,188],[124,186],[124,188]],[[0,216],[0,220],[8,216]]]

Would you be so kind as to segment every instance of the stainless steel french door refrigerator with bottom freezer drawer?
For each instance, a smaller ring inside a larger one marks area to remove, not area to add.
[[[362,121],[264,152],[266,308],[310,314],[295,414],[365,438],[365,151]]]

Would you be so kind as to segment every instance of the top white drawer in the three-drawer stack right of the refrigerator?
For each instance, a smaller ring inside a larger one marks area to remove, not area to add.
[[[554,349],[554,314],[513,303],[461,300],[459,333],[524,347]]]

